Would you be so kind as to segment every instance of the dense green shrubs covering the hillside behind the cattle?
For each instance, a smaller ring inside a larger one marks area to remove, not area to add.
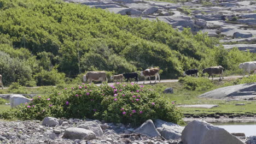
[[[56,85],[80,73],[112,74],[159,66],[162,79],[255,55],[217,46],[218,40],[161,21],[132,19],[56,0],[0,0],[0,74],[4,85]]]

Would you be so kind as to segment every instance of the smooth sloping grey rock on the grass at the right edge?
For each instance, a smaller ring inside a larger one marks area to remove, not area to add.
[[[255,97],[256,83],[228,86],[214,89],[213,91],[199,95],[200,98],[223,99],[228,97],[246,98]]]

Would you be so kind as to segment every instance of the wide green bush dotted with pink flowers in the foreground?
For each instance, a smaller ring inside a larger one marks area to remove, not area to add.
[[[133,83],[113,86],[79,85],[61,93],[34,97],[30,103],[10,110],[20,119],[45,116],[104,119],[107,122],[138,125],[147,119],[182,123],[182,113],[171,101],[152,89]],[[9,113],[11,113],[9,112]],[[6,113],[6,112],[5,112]],[[4,117],[4,114],[3,114]]]

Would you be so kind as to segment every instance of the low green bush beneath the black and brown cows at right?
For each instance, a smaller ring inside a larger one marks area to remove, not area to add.
[[[185,89],[191,91],[205,91],[214,87],[211,80],[203,77],[179,77],[179,82],[183,83]]]

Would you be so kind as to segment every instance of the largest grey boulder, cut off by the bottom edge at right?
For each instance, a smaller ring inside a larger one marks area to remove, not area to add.
[[[210,123],[194,120],[182,131],[184,144],[244,144],[236,136]]]

